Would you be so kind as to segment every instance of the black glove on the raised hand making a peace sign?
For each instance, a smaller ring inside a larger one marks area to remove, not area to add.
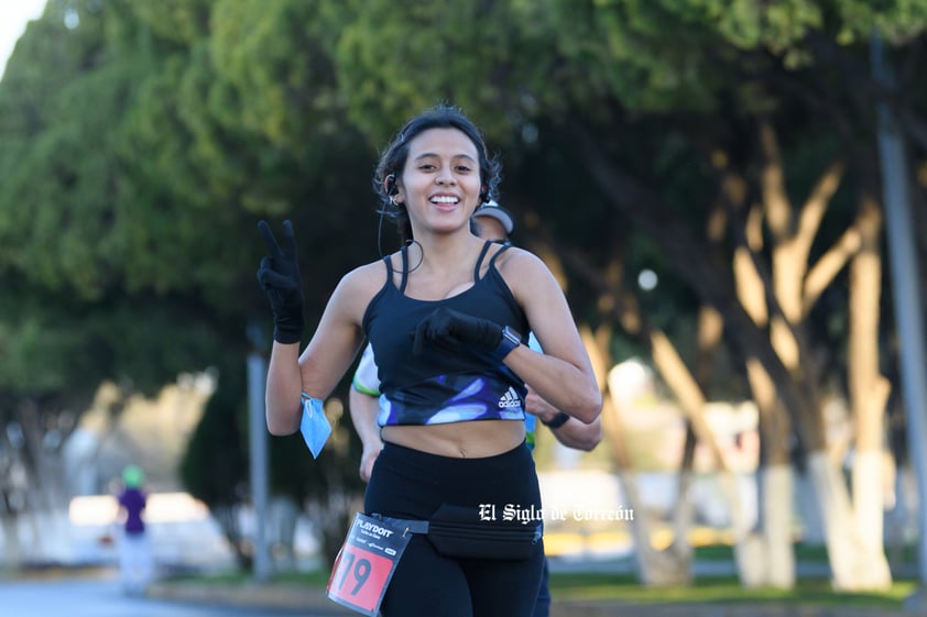
[[[274,313],[274,341],[298,343],[303,339],[306,321],[303,316],[303,282],[299,279],[293,223],[288,220],[283,221],[283,249],[276,243],[266,221],[260,221],[258,229],[264,236],[270,251],[270,256],[261,260],[258,280],[271,300],[271,309]]]

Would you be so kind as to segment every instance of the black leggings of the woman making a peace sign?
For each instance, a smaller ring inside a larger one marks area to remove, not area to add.
[[[514,506],[541,511],[534,459],[525,444],[484,459],[451,459],[386,443],[364,497],[367,514],[427,520],[441,504]],[[413,536],[381,607],[383,617],[530,617],[544,546],[531,559],[497,561],[439,555]]]

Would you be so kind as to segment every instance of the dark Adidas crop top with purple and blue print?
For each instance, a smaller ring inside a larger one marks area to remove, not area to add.
[[[386,283],[363,316],[363,330],[373,348],[380,377],[378,423],[381,427],[524,420],[527,392],[524,382],[489,352],[472,345],[448,350],[433,342],[426,342],[418,355],[412,352],[416,327],[440,307],[527,332],[524,311],[495,269],[495,258],[505,246],[490,258],[486,275],[479,275],[490,245],[493,244],[483,245],[477,260],[473,285],[440,300],[418,300],[405,295],[408,277],[405,249],[399,287],[390,255],[383,257]]]

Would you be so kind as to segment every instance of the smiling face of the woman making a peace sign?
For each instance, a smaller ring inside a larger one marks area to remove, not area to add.
[[[413,227],[469,230],[480,190],[477,146],[461,131],[428,129],[408,143],[396,200],[405,203]]]

